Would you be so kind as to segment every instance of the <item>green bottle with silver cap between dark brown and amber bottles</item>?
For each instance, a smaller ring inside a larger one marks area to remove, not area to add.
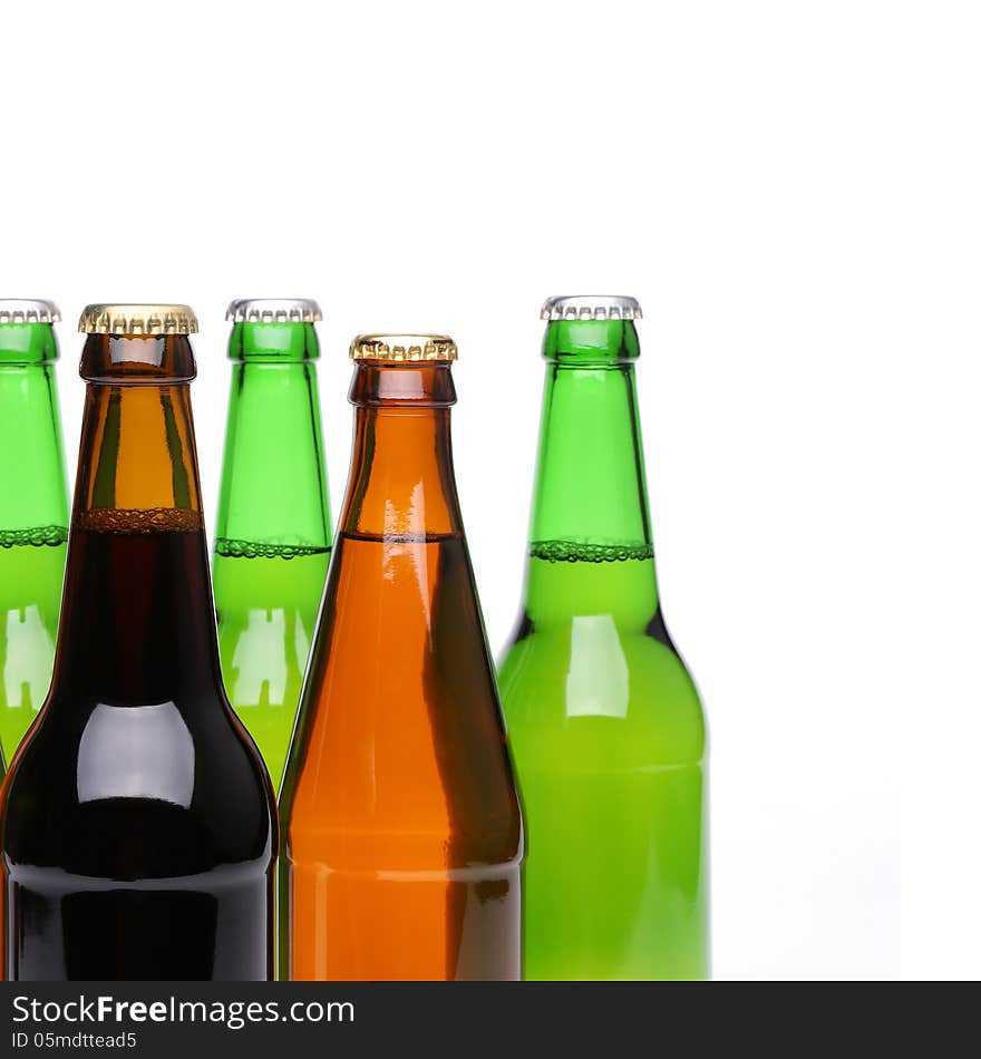
[[[214,556],[229,699],[275,789],[330,557],[314,301],[234,301]]]

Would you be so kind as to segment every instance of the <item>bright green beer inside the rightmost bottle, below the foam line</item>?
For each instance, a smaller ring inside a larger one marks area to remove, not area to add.
[[[526,974],[698,979],[709,971],[705,726],[644,545],[536,542],[502,665],[528,814]]]

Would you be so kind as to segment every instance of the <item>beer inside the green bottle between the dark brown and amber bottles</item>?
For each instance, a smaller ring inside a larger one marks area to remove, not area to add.
[[[215,542],[225,690],[262,750],[274,789],[286,764],[329,561],[330,548]]]

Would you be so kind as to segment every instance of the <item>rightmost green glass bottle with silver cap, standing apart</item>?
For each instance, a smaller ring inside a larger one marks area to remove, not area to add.
[[[658,599],[632,298],[550,299],[524,613],[499,667],[530,979],[709,974],[706,730]]]

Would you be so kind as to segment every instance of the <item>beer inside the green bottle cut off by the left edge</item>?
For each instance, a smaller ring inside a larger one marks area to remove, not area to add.
[[[64,526],[0,531],[0,746],[8,764],[51,683],[67,540]]]

